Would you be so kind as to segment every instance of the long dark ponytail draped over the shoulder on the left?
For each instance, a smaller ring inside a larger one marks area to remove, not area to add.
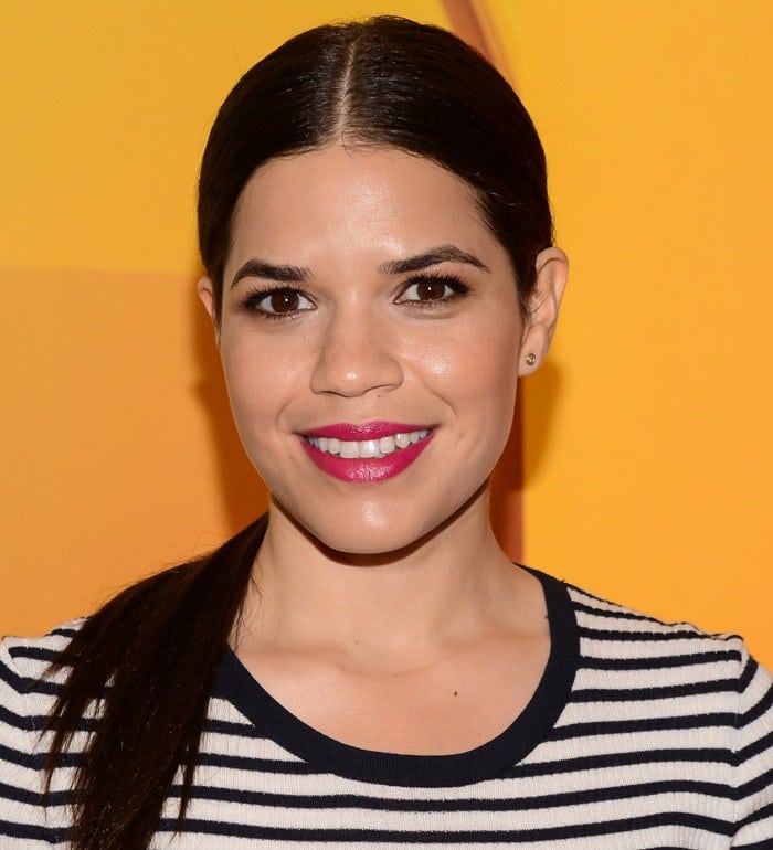
[[[180,767],[181,827],[218,665],[267,522],[128,587],[51,665],[68,673],[44,730],[46,794],[91,703],[98,715],[73,780],[73,850],[149,847]]]

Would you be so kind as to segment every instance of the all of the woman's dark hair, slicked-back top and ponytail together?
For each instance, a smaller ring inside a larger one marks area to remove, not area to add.
[[[399,18],[320,26],[258,62],[225,99],[199,182],[199,242],[222,302],[239,198],[275,157],[342,141],[391,146],[463,178],[509,254],[526,305],[551,244],[544,156],[507,82],[474,50]],[[182,824],[223,650],[265,533],[261,518],[212,554],[124,591],[92,615],[52,670],[51,776],[97,701],[74,778],[74,850],[147,848],[178,769]]]

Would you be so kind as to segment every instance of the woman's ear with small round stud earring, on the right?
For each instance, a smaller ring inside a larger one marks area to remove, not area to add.
[[[528,375],[546,359],[566,286],[569,259],[561,248],[541,251],[536,261],[537,283],[527,305],[518,374]]]

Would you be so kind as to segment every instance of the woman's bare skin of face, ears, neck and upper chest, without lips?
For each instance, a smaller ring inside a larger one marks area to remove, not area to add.
[[[528,702],[550,648],[539,583],[499,549],[487,491],[526,355],[539,363],[550,343],[565,256],[539,255],[525,320],[507,253],[462,180],[340,145],[262,167],[232,235],[215,330],[236,426],[272,493],[236,651],[340,741],[473,748]],[[428,284],[384,268],[449,245],[462,258],[423,269]],[[254,261],[285,277],[303,268],[282,284],[303,295],[255,295],[277,284],[244,274]],[[212,315],[211,283],[199,291]],[[286,318],[265,314],[277,304]],[[389,480],[341,481],[303,448],[311,428],[374,419],[433,428]]]

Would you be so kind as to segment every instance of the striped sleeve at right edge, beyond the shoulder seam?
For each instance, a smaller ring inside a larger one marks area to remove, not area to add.
[[[773,848],[773,679],[743,650],[734,747],[739,850]]]

